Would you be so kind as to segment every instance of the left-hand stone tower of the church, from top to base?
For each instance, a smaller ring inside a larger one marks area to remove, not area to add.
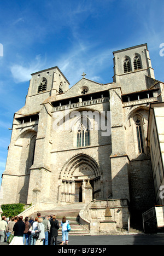
[[[45,69],[31,75],[25,106],[14,114],[7,164],[3,173],[4,187],[10,187],[7,192],[2,186],[4,202],[7,203],[28,202],[28,189],[30,177],[32,177],[30,168],[34,164],[34,152],[40,146],[40,140],[46,141],[44,136],[48,134],[49,129],[46,130],[49,115],[41,117],[41,113],[46,112],[45,105],[43,106],[42,103],[49,97],[55,99],[59,91],[63,93],[69,89],[69,82],[58,67]],[[43,123],[39,123],[41,119]],[[38,133],[39,125],[41,127]],[[45,142],[42,143],[42,146],[43,144],[45,145]],[[40,167],[47,166],[44,157],[40,157],[45,156],[45,146],[40,147],[39,158],[36,153],[38,162],[36,160],[34,166],[38,170]]]

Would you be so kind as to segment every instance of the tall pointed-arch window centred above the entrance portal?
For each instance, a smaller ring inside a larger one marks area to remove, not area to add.
[[[82,119],[82,118],[81,118]],[[77,131],[77,148],[87,147],[90,145],[90,131],[88,121],[82,121]]]

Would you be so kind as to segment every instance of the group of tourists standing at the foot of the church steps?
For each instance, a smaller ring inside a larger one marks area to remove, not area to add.
[[[68,245],[69,220],[62,218],[62,243]],[[9,245],[57,245],[58,229],[60,228],[55,215],[36,218],[2,216],[0,221],[0,242],[9,242]],[[12,240],[10,238],[12,237]]]

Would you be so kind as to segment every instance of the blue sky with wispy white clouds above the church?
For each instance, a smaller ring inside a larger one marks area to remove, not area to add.
[[[111,83],[113,51],[148,43],[155,78],[164,82],[163,0],[0,0],[0,10],[0,184],[8,128],[31,73],[58,66],[71,86],[83,72]]]

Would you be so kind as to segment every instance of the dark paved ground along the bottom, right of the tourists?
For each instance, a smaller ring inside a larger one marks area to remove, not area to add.
[[[58,243],[61,237],[58,237]],[[0,243],[0,245],[8,245]],[[164,245],[164,234],[141,234],[121,236],[69,236],[69,246],[109,246],[109,245]],[[66,246],[64,247],[66,248]]]

